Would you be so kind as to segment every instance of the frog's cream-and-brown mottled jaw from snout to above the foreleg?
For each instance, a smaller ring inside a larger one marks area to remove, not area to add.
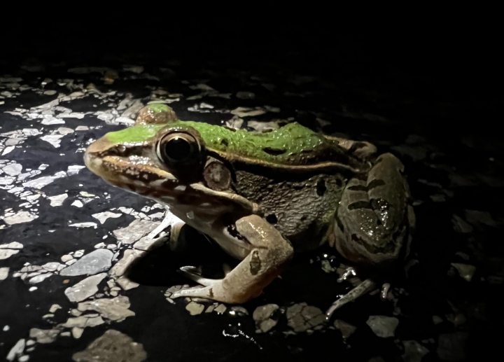
[[[140,168],[117,156],[98,158],[92,153],[85,154],[84,162],[107,183],[174,208],[185,206],[211,211],[224,207],[246,214],[261,214],[258,204],[245,197],[212,190],[202,183],[181,183],[173,174],[153,165]]]

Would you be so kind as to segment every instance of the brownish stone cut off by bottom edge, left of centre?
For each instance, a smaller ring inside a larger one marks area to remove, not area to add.
[[[142,362],[147,359],[147,354],[142,344],[118,330],[109,329],[72,358],[76,362]]]

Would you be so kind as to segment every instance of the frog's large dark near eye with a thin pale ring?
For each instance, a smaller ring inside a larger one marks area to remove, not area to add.
[[[173,132],[158,142],[158,157],[167,165],[181,165],[194,162],[200,154],[200,144],[191,134]]]

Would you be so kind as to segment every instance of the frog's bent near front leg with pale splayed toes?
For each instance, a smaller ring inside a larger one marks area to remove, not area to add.
[[[243,303],[255,298],[277,277],[283,265],[292,258],[293,246],[265,219],[257,215],[240,218],[239,234],[251,244],[251,252],[223,279],[197,276],[190,267],[183,272],[204,287],[182,289],[172,298],[200,297],[219,302]]]

